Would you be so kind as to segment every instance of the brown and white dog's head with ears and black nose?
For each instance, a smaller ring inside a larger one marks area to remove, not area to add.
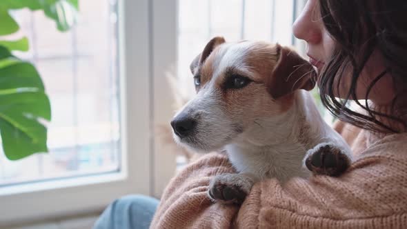
[[[256,138],[286,112],[292,92],[311,90],[314,70],[279,44],[210,40],[190,65],[197,94],[175,115],[175,139],[194,150],[218,150],[241,136]]]

